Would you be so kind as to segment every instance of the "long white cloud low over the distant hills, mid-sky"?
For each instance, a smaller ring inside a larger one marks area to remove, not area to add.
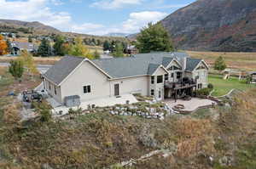
[[[166,17],[166,13],[158,11],[143,11],[131,13],[129,18],[120,25],[97,25],[92,23],[84,23],[83,25],[75,25],[72,28],[73,32],[86,33],[92,35],[106,35],[108,33],[137,33],[143,26],[149,22],[156,23]]]

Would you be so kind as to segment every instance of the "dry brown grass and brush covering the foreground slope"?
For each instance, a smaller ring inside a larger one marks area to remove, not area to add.
[[[14,104],[14,98],[2,97],[0,168],[121,169],[125,167],[114,164],[166,149],[171,152],[168,157],[154,155],[131,168],[253,169],[256,89],[233,98],[226,100],[232,107],[172,115],[164,121],[113,116],[99,110],[67,120],[21,123],[20,104]]]

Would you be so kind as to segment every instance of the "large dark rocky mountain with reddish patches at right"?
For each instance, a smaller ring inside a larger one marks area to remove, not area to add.
[[[255,0],[198,0],[161,23],[179,49],[256,51]]]

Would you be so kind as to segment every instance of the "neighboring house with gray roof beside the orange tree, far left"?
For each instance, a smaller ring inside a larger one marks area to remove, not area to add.
[[[20,55],[22,50],[34,53],[38,50],[38,47],[32,42],[11,42],[11,54],[16,56]]]

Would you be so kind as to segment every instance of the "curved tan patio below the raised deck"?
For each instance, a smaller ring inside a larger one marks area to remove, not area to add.
[[[216,102],[214,102],[210,99],[199,99],[199,98],[192,98],[189,101],[177,99],[177,102],[175,102],[174,99],[166,99],[164,102],[172,109],[177,104],[183,104],[185,109],[180,110],[180,111],[187,111],[187,112],[193,112],[200,107],[205,107],[205,106],[210,106],[212,104],[216,104]]]

